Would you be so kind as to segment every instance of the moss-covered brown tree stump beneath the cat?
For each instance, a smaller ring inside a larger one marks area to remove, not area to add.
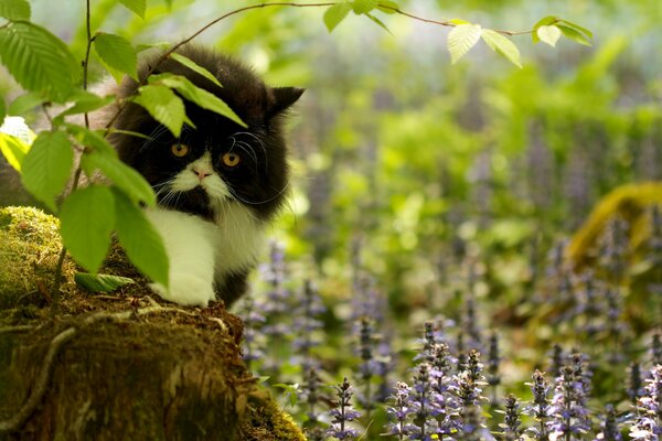
[[[57,228],[38,209],[0,208],[0,440],[305,440],[246,370],[242,321],[221,302],[159,301],[117,247],[103,272],[137,283],[86,292],[65,259],[51,318]]]

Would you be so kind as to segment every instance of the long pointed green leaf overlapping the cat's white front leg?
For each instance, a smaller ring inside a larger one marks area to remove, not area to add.
[[[119,244],[140,272],[168,287],[168,255],[161,236],[142,209],[132,204],[119,190],[113,191]]]

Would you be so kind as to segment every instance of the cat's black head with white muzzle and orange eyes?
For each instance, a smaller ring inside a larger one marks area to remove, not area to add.
[[[186,116],[195,128],[186,125],[174,138],[142,108],[130,105],[115,127],[149,139],[115,137],[119,155],[152,185],[161,206],[217,220],[227,204],[241,204],[266,220],[282,204],[288,189],[280,116],[302,90],[268,88],[248,69],[207,52],[193,50],[185,55],[216,74],[224,87],[186,75],[172,63],[159,72],[186,75],[215,93],[248,128],[186,103]]]

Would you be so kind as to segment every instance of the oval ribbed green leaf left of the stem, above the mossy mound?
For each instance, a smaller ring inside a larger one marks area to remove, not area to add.
[[[74,164],[72,144],[63,131],[41,132],[23,159],[22,183],[52,211],[68,182]]]

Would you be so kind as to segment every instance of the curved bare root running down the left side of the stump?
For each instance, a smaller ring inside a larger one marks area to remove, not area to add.
[[[19,430],[25,423],[28,418],[30,418],[30,416],[34,412],[39,404],[42,401],[42,398],[46,392],[46,388],[49,387],[51,374],[53,373],[53,362],[55,361],[55,356],[62,346],[72,340],[74,335],[76,335],[76,329],[70,327],[62,331],[51,341],[51,344],[49,345],[49,352],[44,357],[36,383],[32,389],[32,394],[30,394],[30,398],[28,398],[28,401],[25,401],[23,407],[21,407],[21,409],[12,418],[6,421],[0,421],[0,433],[14,432]]]

